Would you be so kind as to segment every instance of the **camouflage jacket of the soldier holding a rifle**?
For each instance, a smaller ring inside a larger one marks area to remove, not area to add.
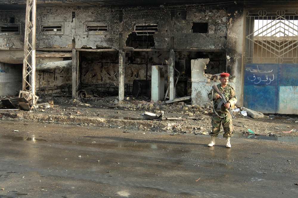
[[[225,88],[222,88],[221,84],[218,84],[217,88],[218,88],[219,92],[224,94],[224,96],[226,97],[226,101],[228,101],[231,104],[231,108],[233,109],[234,105],[237,102],[236,92],[235,92],[234,88],[230,85],[226,85]],[[212,97],[212,89],[211,89],[211,91],[208,94],[208,98],[209,98],[209,100],[213,101],[214,109],[216,111],[219,111],[217,109],[217,106],[221,102],[221,98],[216,99],[216,95],[218,95],[218,93],[215,90],[213,90],[213,98],[211,98]],[[224,107],[224,105],[222,105],[220,112],[228,113],[228,110]]]

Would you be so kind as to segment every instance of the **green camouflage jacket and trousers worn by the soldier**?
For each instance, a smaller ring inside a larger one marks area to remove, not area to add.
[[[217,88],[219,92],[224,94],[224,96],[226,97],[226,100],[231,104],[231,108],[233,108],[235,103],[237,102],[236,92],[234,88],[230,85],[226,85],[225,88],[222,88],[221,84],[218,84]],[[218,134],[221,130],[221,123],[222,123],[222,126],[224,128],[224,137],[232,137],[233,129],[234,129],[233,122],[232,122],[232,115],[228,113],[228,110],[224,107],[224,104],[221,106],[220,110],[217,109],[218,104],[221,102],[221,98],[216,99],[216,95],[218,95],[218,93],[216,93],[214,90],[213,90],[213,98],[211,98],[212,90],[208,94],[208,98],[213,101],[214,109],[220,116],[219,117],[218,115],[216,115],[216,113],[213,110],[212,123],[211,123],[212,132],[210,132],[209,135],[218,137]]]

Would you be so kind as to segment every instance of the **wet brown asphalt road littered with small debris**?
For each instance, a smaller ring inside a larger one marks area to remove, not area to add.
[[[0,197],[298,194],[297,143],[233,137],[231,149],[223,138],[208,148],[208,135],[0,124]]]

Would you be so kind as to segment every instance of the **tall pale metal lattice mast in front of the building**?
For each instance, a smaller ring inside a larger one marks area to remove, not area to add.
[[[35,33],[36,33],[36,0],[27,0],[24,64],[23,64],[23,91],[35,94]],[[35,103],[32,98],[32,104]]]

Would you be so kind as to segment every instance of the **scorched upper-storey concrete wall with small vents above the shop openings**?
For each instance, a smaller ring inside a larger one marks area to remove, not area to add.
[[[76,48],[113,47],[119,49],[119,33],[128,37],[135,24],[158,24],[154,34],[156,49],[169,49],[174,37],[175,49],[218,50],[226,46],[227,14],[224,9],[199,8],[171,12],[162,8],[111,9],[109,7],[44,8],[38,10],[37,48],[63,47],[75,37]],[[106,25],[106,31],[88,27]],[[48,31],[46,27],[61,26]],[[204,30],[200,30],[204,29]]]

